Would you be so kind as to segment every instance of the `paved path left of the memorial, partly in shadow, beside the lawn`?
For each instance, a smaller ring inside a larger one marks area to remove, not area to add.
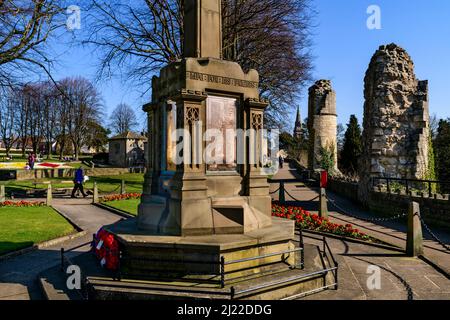
[[[89,200],[84,199],[55,199],[53,206],[86,230],[87,235],[0,262],[0,300],[43,299],[37,276],[60,263],[61,247],[70,249],[87,243],[101,226],[113,224],[121,219],[108,211],[92,206]],[[68,256],[77,256],[88,250],[89,245],[86,245]]]

